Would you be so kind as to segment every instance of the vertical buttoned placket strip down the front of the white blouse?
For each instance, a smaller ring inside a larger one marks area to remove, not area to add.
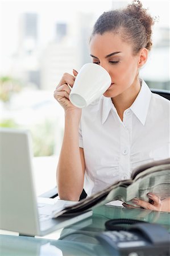
[[[120,152],[120,170],[121,179],[130,178],[130,144],[132,129],[132,112],[131,109],[123,113],[123,122],[121,123],[121,152]]]

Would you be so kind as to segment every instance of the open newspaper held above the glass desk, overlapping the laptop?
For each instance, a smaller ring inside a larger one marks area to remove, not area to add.
[[[71,207],[54,211],[53,218],[80,214],[113,200],[121,200],[132,204],[134,197],[148,201],[147,193],[152,192],[161,200],[170,197],[170,158],[159,160],[135,168],[131,179],[119,181],[94,195],[81,200]]]

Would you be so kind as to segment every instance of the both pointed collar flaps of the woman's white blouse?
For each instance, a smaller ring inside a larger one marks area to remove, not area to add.
[[[143,125],[146,121],[150,100],[151,90],[148,88],[146,82],[142,80],[140,92],[136,97],[135,101],[133,102],[133,104],[131,105],[130,109]],[[106,122],[106,119],[109,116],[111,109],[117,112],[113,102],[111,101],[111,98],[103,96],[102,125]]]

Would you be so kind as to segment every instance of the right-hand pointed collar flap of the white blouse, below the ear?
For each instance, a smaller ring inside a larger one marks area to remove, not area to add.
[[[148,88],[146,82],[142,80],[140,92],[130,107],[132,112],[136,115],[136,117],[143,125],[146,122],[148,108],[151,100],[151,94],[152,93],[150,88]]]

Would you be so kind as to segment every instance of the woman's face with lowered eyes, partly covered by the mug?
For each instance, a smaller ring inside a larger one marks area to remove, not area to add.
[[[132,46],[123,42],[120,34],[105,32],[96,34],[90,42],[93,63],[101,65],[111,76],[111,85],[103,94],[116,97],[131,93],[136,85],[140,55],[132,54]]]

